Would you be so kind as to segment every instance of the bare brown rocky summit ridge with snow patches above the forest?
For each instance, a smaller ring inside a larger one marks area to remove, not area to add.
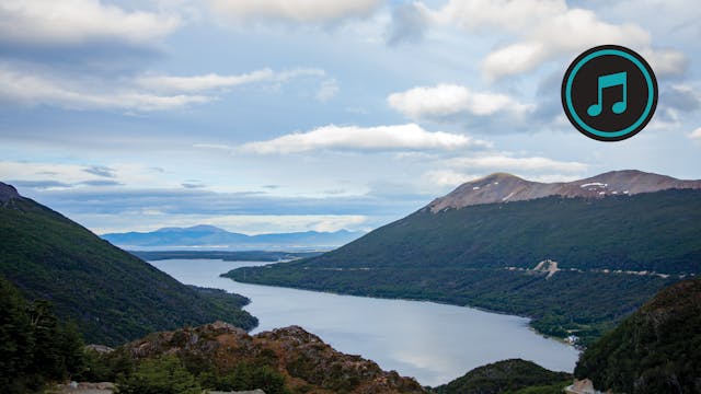
[[[674,188],[701,188],[701,181],[682,181],[637,170],[611,171],[573,182],[539,183],[506,173],[494,173],[467,182],[426,209],[438,212],[481,204],[522,201],[548,196],[604,198],[654,193]]]

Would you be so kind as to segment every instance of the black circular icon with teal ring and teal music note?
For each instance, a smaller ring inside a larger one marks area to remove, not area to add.
[[[657,80],[635,51],[602,45],[584,51],[562,79],[562,107],[583,135],[620,141],[640,132],[657,107]]]

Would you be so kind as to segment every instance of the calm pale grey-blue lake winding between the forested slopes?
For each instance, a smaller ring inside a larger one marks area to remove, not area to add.
[[[547,339],[528,320],[433,302],[338,296],[248,285],[219,274],[267,263],[214,259],[151,262],[183,283],[225,289],[251,299],[258,333],[299,325],[335,349],[360,355],[384,370],[438,385],[467,371],[508,358],[522,358],[555,371],[572,372],[577,350]]]

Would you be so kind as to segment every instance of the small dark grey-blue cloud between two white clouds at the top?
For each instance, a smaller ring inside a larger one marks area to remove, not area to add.
[[[392,10],[392,22],[388,25],[387,43],[399,45],[415,43],[424,37],[429,20],[421,3],[404,3]]]

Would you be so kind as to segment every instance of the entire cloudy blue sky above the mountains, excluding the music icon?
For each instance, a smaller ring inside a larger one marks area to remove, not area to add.
[[[659,101],[620,142],[562,111],[604,44]],[[97,232],[369,231],[463,182],[701,178],[701,7],[623,0],[0,0],[0,181]]]

